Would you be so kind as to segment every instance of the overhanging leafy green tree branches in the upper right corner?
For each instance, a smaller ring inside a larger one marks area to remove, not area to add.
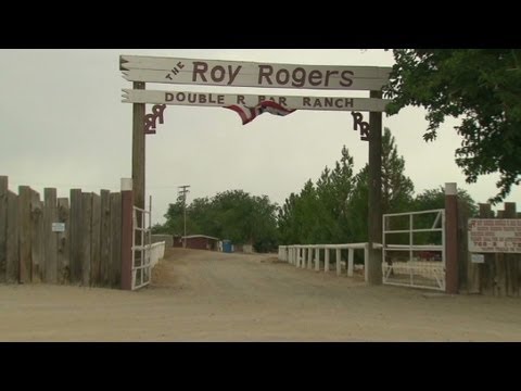
[[[387,114],[408,105],[427,109],[427,141],[447,116],[460,117],[456,164],[469,184],[498,173],[499,191],[490,201],[503,201],[521,181],[521,50],[395,49],[393,54],[384,88],[392,99]]]

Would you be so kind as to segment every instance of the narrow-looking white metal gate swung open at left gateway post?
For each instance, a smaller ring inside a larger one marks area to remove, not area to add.
[[[152,198],[149,207],[134,206],[132,211],[132,290],[148,286],[151,278]]]

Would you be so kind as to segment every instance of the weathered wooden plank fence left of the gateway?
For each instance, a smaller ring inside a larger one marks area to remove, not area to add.
[[[65,230],[52,230],[64,223]],[[0,283],[122,286],[122,193],[72,189],[43,199],[28,186],[18,193],[0,176]]]

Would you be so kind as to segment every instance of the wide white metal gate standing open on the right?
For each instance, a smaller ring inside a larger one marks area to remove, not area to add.
[[[445,291],[445,210],[383,215],[383,283]]]

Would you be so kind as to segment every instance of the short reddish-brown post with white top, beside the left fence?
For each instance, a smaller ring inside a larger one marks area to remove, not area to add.
[[[132,289],[132,179],[122,178],[122,289]]]

